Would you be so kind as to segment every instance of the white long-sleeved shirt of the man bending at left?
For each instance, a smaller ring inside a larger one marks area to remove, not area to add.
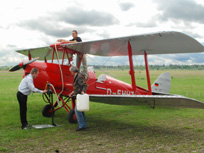
[[[23,78],[18,87],[18,91],[24,95],[30,95],[31,92],[43,93],[42,90],[35,88],[33,84],[33,76],[31,74],[28,74]]]

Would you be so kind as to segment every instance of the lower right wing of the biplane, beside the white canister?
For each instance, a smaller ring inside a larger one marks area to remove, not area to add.
[[[90,100],[115,105],[150,105],[204,109],[204,103],[180,95],[89,95]]]

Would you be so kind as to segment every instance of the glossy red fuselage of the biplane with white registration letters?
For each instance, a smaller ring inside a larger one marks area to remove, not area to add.
[[[26,66],[24,69],[24,76],[35,67],[39,69],[39,75],[34,79],[34,85],[38,89],[45,89],[46,84],[49,82],[54,87],[57,93],[62,91],[62,95],[69,95],[73,91],[74,76],[70,73],[68,65],[60,65],[62,70],[63,79],[61,79],[60,67],[55,63],[33,62]],[[100,75],[98,79],[93,71],[88,71],[88,94],[102,94],[102,95],[148,95],[148,91],[136,86],[136,91],[128,83],[122,82],[108,75]],[[62,81],[63,80],[63,81]],[[64,89],[62,90],[62,83]]]

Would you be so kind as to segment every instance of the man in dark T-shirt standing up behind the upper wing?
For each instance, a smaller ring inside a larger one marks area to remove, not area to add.
[[[73,37],[73,39],[71,39],[71,40],[58,39],[57,41],[58,42],[68,42],[68,43],[82,42],[82,39],[80,37],[78,37],[78,32],[76,30],[72,31],[72,37]],[[77,66],[79,65],[79,61],[80,61],[81,56],[82,56],[82,54],[77,54],[77,59],[76,59],[76,65]],[[82,64],[83,64],[82,73],[84,73],[86,76],[88,76],[86,54],[83,55]],[[79,68],[79,72],[80,72],[80,68]]]

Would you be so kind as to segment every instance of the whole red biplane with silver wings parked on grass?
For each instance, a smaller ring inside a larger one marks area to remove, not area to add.
[[[73,90],[73,76],[69,71],[72,66],[72,56],[70,56],[72,54],[129,57],[129,74],[132,84],[127,84],[105,74],[96,78],[94,71],[88,71],[87,93],[92,101],[124,105],[148,104],[152,107],[159,105],[204,108],[204,103],[200,101],[169,94],[171,75],[168,72],[160,75],[152,85],[150,82],[147,55],[204,52],[203,45],[183,33],[159,32],[98,41],[56,43],[48,47],[24,49],[17,52],[28,56],[29,61],[21,62],[12,67],[10,71],[23,68],[25,76],[33,67],[38,68],[39,76],[34,80],[35,86],[43,90],[47,82],[52,85],[52,90],[59,99],[53,105],[54,111],[64,107],[71,123],[76,122],[73,111],[75,101],[68,97]],[[148,89],[136,85],[133,55],[144,56]],[[55,60],[58,61],[57,64],[54,63]],[[46,94],[43,95],[43,98],[49,103],[43,108],[43,116],[50,117],[52,108],[50,99]]]

